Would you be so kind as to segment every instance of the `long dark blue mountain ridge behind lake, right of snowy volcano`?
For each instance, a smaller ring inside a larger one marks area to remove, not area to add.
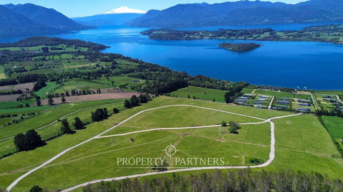
[[[311,0],[296,5],[265,1],[179,4],[150,10],[126,25],[136,27],[200,27],[276,23],[326,23],[343,21],[342,0]]]

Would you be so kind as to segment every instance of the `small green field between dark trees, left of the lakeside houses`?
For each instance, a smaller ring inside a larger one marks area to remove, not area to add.
[[[196,96],[196,98],[199,98],[200,100],[213,100],[214,98],[215,101],[217,102],[225,102],[224,100],[225,91],[207,89],[207,88],[202,88],[202,87],[189,86],[189,87],[177,90],[176,92],[171,92],[170,95],[178,96],[178,98],[187,98],[187,96],[189,95],[191,99],[193,99],[193,96]]]

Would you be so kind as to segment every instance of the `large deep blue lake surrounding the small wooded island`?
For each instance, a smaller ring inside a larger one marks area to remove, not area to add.
[[[302,29],[308,24],[255,25],[218,28],[265,28],[277,30]],[[257,85],[307,87],[314,90],[343,90],[343,45],[321,42],[261,42],[254,51],[236,53],[220,49],[222,42],[241,40],[163,41],[149,40],[139,33],[147,28],[101,26],[99,29],[56,35],[59,38],[106,44],[104,53],[120,53],[143,59],[172,70],[187,71],[191,75],[204,74],[228,81],[247,81]],[[194,28],[193,28],[194,29]]]

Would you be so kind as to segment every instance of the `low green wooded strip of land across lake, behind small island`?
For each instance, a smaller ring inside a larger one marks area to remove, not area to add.
[[[152,40],[259,40],[303,41],[343,44],[343,25],[319,25],[305,27],[300,31],[275,31],[265,29],[218,29],[217,31],[181,31],[174,29],[149,29],[141,32]]]

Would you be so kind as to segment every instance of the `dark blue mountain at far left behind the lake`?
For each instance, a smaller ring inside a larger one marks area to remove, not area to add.
[[[0,5],[0,38],[39,36],[89,29],[54,9],[31,3]]]

